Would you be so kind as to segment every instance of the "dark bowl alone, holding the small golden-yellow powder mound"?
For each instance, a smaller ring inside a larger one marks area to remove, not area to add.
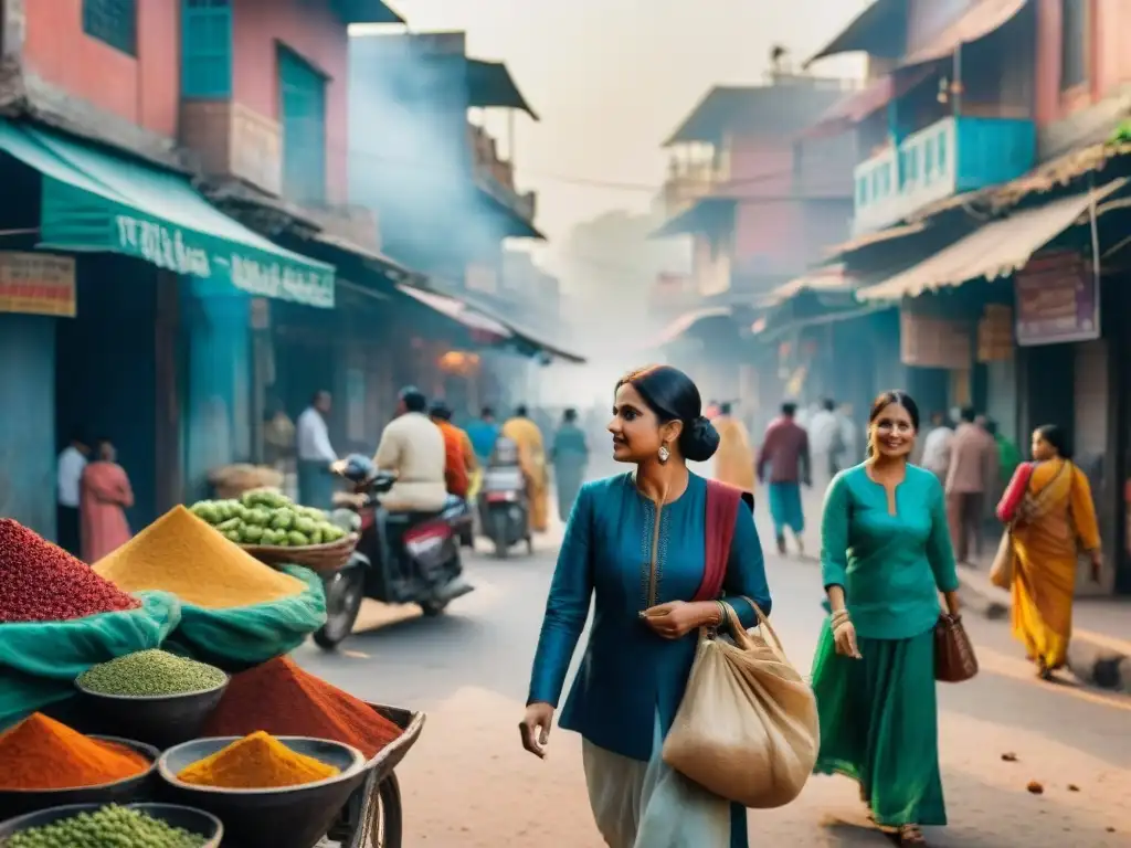
[[[240,738],[222,736],[176,745],[162,754],[157,772],[163,781],[164,797],[213,813],[224,822],[228,838],[241,848],[313,848],[371,768],[365,755],[349,745],[307,736],[277,736],[295,753],[334,765],[338,773],[326,780],[283,789],[193,786],[176,777]]]

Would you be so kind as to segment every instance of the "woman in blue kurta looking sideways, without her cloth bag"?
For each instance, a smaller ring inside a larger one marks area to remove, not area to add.
[[[587,483],[570,514],[534,658],[528,751],[545,755],[570,658],[595,598],[585,658],[559,724],[584,737],[586,782],[611,848],[745,848],[745,811],[707,793],[661,758],[696,654],[700,626],[722,623],[715,602],[691,600],[703,580],[705,461],[718,433],[699,391],[676,369],[633,372],[616,387],[613,456],[634,473]],[[769,612],[753,514],[740,504],[724,591]],[[744,626],[749,603],[732,602]]]

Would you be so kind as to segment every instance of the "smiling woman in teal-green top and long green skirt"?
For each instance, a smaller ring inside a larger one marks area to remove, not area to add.
[[[958,612],[942,485],[907,461],[918,408],[875,399],[867,459],[834,477],[821,520],[826,621],[813,659],[817,771],[856,780],[872,820],[903,846],[947,823],[939,769],[934,626]]]

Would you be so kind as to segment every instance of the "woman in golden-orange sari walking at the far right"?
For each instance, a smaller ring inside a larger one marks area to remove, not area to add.
[[[1013,638],[1037,673],[1051,680],[1063,667],[1072,637],[1072,598],[1080,548],[1099,580],[1103,555],[1088,477],[1072,462],[1064,431],[1053,424],[1033,433],[1031,464],[1013,474],[998,504],[1011,525]]]

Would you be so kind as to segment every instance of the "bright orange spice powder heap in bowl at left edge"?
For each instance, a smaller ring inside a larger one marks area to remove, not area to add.
[[[35,712],[0,734],[0,789],[79,789],[149,770],[148,759]]]

